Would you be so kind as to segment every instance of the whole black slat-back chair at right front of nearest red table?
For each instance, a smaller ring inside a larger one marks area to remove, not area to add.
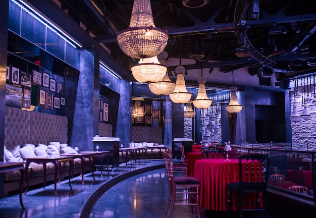
[[[244,154],[239,157],[239,182],[229,183],[227,185],[228,196],[228,217],[232,204],[238,204],[240,218],[243,217],[243,211],[263,211],[266,214],[267,185],[269,175],[270,159],[265,154]],[[264,170],[264,168],[266,170]],[[244,193],[253,193],[255,200],[244,199]],[[233,198],[235,201],[233,201]],[[262,201],[262,206],[260,205]],[[251,207],[245,208],[244,205]]]

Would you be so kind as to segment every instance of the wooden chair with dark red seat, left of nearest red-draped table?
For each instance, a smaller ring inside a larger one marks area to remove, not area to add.
[[[168,210],[171,206],[169,212],[169,218],[172,216],[175,205],[191,205],[193,213],[193,205],[196,205],[197,215],[200,218],[199,212],[199,187],[200,182],[193,178],[187,176],[176,177],[174,176],[174,163],[172,160],[172,155],[167,152],[163,152],[166,173],[168,177],[169,186],[169,196],[168,203],[165,214],[168,214]],[[178,197],[177,197],[178,195]],[[191,198],[185,197],[185,199],[179,199],[179,196],[190,195]],[[189,200],[191,199],[191,201]]]

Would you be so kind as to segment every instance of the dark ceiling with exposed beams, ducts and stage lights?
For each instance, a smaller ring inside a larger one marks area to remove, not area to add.
[[[138,62],[126,56],[116,41],[116,33],[129,26],[132,0],[60,2],[60,7],[78,24],[84,24],[86,31],[104,43],[126,69]],[[222,74],[237,69],[245,69],[244,73],[248,74],[250,66],[255,70],[262,67],[266,76],[274,74],[277,79],[313,73],[316,69],[316,1],[150,2],[155,26],[169,34],[165,50],[172,79],[179,65],[175,60],[180,57],[192,60],[183,66],[196,78],[200,76],[201,66],[210,71],[217,69]],[[197,7],[203,3],[206,4]],[[238,52],[240,49],[242,52]],[[190,55],[201,58],[192,59]],[[169,59],[174,61],[168,62]],[[256,75],[253,72],[257,71],[251,71],[252,76]]]

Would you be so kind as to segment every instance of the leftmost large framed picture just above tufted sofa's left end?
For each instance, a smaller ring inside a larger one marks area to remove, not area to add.
[[[6,84],[6,106],[22,107],[22,88]]]

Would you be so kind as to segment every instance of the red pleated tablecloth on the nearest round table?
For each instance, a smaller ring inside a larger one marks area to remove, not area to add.
[[[207,210],[227,211],[226,185],[239,181],[239,160],[196,160],[194,178],[201,182],[200,207]]]

